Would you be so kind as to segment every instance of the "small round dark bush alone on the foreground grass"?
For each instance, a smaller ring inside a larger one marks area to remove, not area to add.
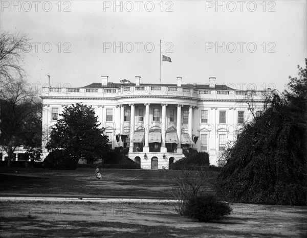
[[[227,203],[218,201],[212,194],[191,197],[186,209],[188,217],[197,219],[199,222],[221,220],[232,211]]]

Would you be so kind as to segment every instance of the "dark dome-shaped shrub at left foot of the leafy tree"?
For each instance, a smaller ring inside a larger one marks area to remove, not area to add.
[[[65,152],[65,150],[56,149],[49,153],[46,159],[43,161],[44,168],[50,169],[76,169],[75,160]]]

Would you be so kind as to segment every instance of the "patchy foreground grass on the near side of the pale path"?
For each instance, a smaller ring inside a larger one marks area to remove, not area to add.
[[[1,237],[306,237],[307,207],[232,204],[214,223],[170,204],[1,202]]]

